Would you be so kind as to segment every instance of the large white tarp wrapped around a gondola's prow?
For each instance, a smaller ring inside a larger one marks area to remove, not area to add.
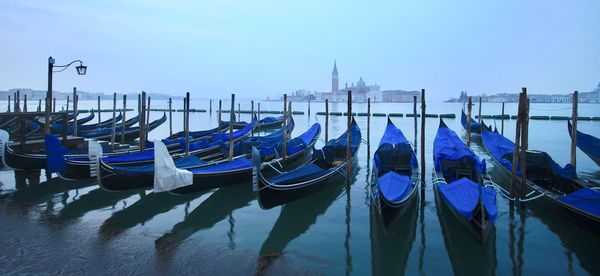
[[[194,174],[175,167],[175,162],[160,141],[154,141],[154,192],[166,192],[179,187],[192,185]]]

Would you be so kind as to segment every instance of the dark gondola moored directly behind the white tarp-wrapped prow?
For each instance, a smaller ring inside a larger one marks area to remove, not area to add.
[[[259,141],[260,139],[269,139],[268,137],[246,137],[251,131],[250,128],[244,130],[243,135],[237,137],[237,139],[233,140],[234,146],[244,139],[254,139]],[[236,132],[241,132],[242,130],[238,130]],[[276,135],[276,134],[274,134]],[[229,144],[229,141],[226,139],[221,139],[220,134],[214,134],[214,137],[217,139],[214,142],[214,146],[210,148],[215,148],[216,151],[220,152],[221,148],[227,148],[226,145]],[[280,136],[281,137],[281,136]],[[281,139],[281,138],[280,138]],[[260,143],[260,142],[256,142]],[[207,158],[203,158],[202,151],[192,151],[190,152],[190,156],[185,156],[183,154],[176,154],[173,156],[168,156],[169,153],[163,154],[162,152],[159,157],[155,156],[155,151],[150,152],[152,159],[150,162],[144,162],[140,165],[117,165],[114,162],[107,162],[106,158],[103,158],[100,162],[100,177],[99,182],[100,185],[107,190],[129,190],[135,188],[152,188],[153,180],[155,178],[155,166],[154,162],[156,158],[173,158],[174,165],[177,169],[184,170],[193,170],[197,168],[211,167],[217,164],[217,161],[206,161]],[[235,154],[235,153],[234,153]],[[220,154],[220,156],[224,156],[224,154]],[[119,159],[120,160],[120,159]],[[237,160],[237,159],[236,159]],[[160,172],[159,172],[160,175]]]

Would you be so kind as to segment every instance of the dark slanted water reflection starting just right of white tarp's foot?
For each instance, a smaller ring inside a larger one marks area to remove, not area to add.
[[[172,252],[180,242],[202,229],[213,227],[218,222],[230,217],[234,210],[248,206],[255,198],[252,185],[249,183],[219,188],[189,213],[182,222],[173,226],[169,233],[158,238],[155,241],[156,249],[159,253]],[[229,222],[230,233],[233,233],[235,220],[230,219]]]

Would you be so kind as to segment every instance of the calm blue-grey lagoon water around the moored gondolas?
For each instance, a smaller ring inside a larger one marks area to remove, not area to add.
[[[109,108],[106,101],[104,108]],[[166,102],[153,102],[166,107]],[[83,102],[81,108],[95,102]],[[180,105],[180,104],[179,104]],[[179,105],[175,105],[179,108]],[[227,106],[225,103],[223,106]],[[262,103],[263,110],[281,109],[282,103]],[[2,106],[0,104],[0,106]],[[136,108],[136,104],[130,105]],[[213,104],[216,109],[217,104]],[[446,123],[464,139],[461,104],[429,103],[428,113],[456,113]],[[32,105],[33,107],[33,105]],[[32,108],[30,107],[30,108]],[[599,105],[580,105],[581,116],[600,116]],[[208,102],[195,100],[192,108],[208,110]],[[242,101],[242,109],[250,109]],[[294,103],[294,110],[307,110]],[[324,123],[323,103],[311,104],[312,116],[296,115],[292,136],[312,123]],[[345,111],[332,104],[331,111]],[[476,112],[475,106],[474,112]],[[484,104],[483,114],[499,114],[500,104]],[[506,106],[516,114],[516,104]],[[366,112],[355,104],[354,112]],[[373,104],[373,112],[412,112],[412,104]],[[568,104],[532,104],[531,115],[570,115]],[[133,114],[129,114],[128,117]],[[153,112],[151,120],[161,114]],[[85,116],[85,115],[83,115]],[[103,113],[107,119],[109,113]],[[215,114],[191,114],[192,130],[214,127]],[[248,120],[249,115],[242,115]],[[330,137],[345,130],[345,117],[330,117]],[[409,140],[414,138],[412,118],[394,118]],[[366,117],[357,117],[366,138]],[[371,153],[386,119],[371,119]],[[488,121],[489,123],[489,121]],[[500,122],[496,122],[500,128]],[[514,138],[514,120],[505,121],[505,135]],[[570,139],[566,121],[530,121],[531,149],[544,150],[560,164],[569,160]],[[174,113],[174,130],[182,114]],[[427,180],[431,178],[432,146],[438,119],[426,120]],[[581,131],[600,134],[600,122],[579,123]],[[150,133],[162,138],[168,124]],[[322,137],[324,132],[322,132]],[[474,150],[490,157],[474,138]],[[317,144],[321,147],[322,143]],[[419,145],[420,147],[420,145]],[[499,198],[495,238],[485,246],[464,233],[451,216],[438,210],[433,191],[425,200],[384,231],[371,210],[367,183],[370,160],[367,146],[359,151],[359,166],[345,181],[308,198],[271,210],[262,210],[250,183],[189,196],[140,192],[106,192],[93,181],[46,181],[25,187],[28,175],[0,172],[0,272],[56,273],[262,273],[268,274],[600,274],[600,234],[581,228],[553,210],[532,202],[511,210]],[[491,169],[497,182],[506,181]],[[600,181],[600,168],[578,151],[578,173]],[[39,174],[29,176],[36,182]]]

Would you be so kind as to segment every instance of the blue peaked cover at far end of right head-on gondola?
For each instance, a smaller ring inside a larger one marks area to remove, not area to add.
[[[442,170],[442,160],[461,160],[463,158],[473,160],[475,168],[480,173],[485,173],[485,159],[480,160],[471,151],[454,131],[448,127],[440,126],[433,142],[433,161],[436,170]]]

